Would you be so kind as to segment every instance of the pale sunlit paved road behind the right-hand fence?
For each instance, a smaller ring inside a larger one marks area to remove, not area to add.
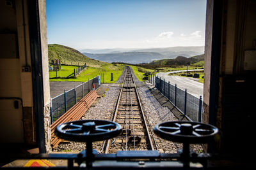
[[[204,69],[190,69],[188,71],[202,71]],[[190,94],[196,97],[203,97],[204,94],[204,84],[200,83],[196,80],[197,78],[187,78],[182,76],[168,76],[170,73],[180,73],[180,72],[186,72],[187,70],[179,70],[179,71],[170,71],[166,73],[157,73],[156,75],[158,77],[161,77],[161,79],[164,81],[170,81],[170,84],[175,85],[177,83],[177,87],[179,89],[185,90],[187,89]]]

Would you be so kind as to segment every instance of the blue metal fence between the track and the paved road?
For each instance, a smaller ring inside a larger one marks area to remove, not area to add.
[[[202,97],[198,99],[187,92],[181,90],[177,85],[161,80],[155,76],[155,87],[186,117],[193,122],[201,122],[202,117]]]

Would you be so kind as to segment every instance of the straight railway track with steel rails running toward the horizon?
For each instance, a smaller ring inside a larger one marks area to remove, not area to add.
[[[104,141],[102,151],[105,153],[116,153],[118,150],[157,150],[130,67],[125,67],[122,88],[111,121],[120,124],[123,133]]]

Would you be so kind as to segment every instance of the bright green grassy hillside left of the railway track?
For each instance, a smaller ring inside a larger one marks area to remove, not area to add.
[[[52,59],[60,59],[63,64],[72,64],[80,66],[84,65],[86,62],[86,69],[84,69],[79,76],[76,78],[66,79],[65,76],[71,74],[74,70],[74,66],[61,66],[63,69],[58,71],[58,77],[56,77],[55,71],[49,71],[50,81],[88,81],[101,73],[104,73],[105,83],[114,83],[118,80],[119,76],[122,74],[123,66],[122,64],[110,64],[108,62],[102,62],[99,60],[90,59],[77,50],[63,45],[48,45],[49,50],[49,62]],[[70,67],[70,68],[69,68]],[[114,75],[113,81],[111,81],[111,73]]]

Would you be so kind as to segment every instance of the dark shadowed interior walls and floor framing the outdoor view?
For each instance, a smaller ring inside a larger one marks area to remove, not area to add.
[[[255,9],[255,0],[207,0],[202,122],[218,128],[218,136],[204,144],[204,153],[99,155],[87,148],[61,155],[51,154],[45,0],[1,0],[0,165],[66,159],[66,167],[51,168],[255,169]],[[29,153],[31,148],[38,148],[36,154]],[[73,164],[84,160],[86,166]]]

